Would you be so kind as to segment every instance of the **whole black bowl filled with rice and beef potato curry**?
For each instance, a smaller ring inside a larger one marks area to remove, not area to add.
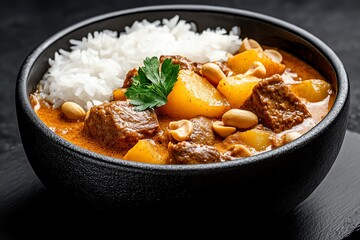
[[[153,6],[50,37],[26,58],[16,97],[29,162],[61,196],[111,211],[263,214],[294,209],[329,172],[349,82],[326,44],[289,23]]]

